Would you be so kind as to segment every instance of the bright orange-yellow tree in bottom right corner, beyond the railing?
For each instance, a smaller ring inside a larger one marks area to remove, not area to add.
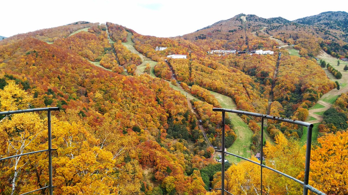
[[[327,134],[318,143],[311,152],[309,184],[326,194],[348,194],[348,131]]]

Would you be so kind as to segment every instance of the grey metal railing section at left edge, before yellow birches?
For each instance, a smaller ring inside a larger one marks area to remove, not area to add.
[[[57,150],[57,149],[52,149],[52,132],[51,132],[51,111],[57,111],[59,110],[58,107],[52,107],[52,108],[34,108],[34,109],[26,109],[26,110],[12,110],[12,111],[5,111],[5,112],[0,112],[0,116],[2,115],[12,115],[12,114],[18,114],[18,113],[25,113],[25,112],[39,112],[39,111],[47,111],[47,128],[48,128],[48,149],[47,150],[39,150],[39,151],[33,151],[33,152],[28,152],[24,154],[18,154],[18,155],[13,155],[13,156],[8,156],[6,158],[0,159],[0,162],[6,159],[10,158],[15,158],[18,156],[24,156],[24,155],[29,155],[29,154],[35,154],[39,152],[48,152],[48,175],[49,175],[49,184],[48,186],[42,187],[40,189],[35,189],[33,191],[24,193],[24,194],[29,194],[32,192],[36,192],[42,189],[49,189],[49,194],[53,195],[53,182],[52,182],[52,151]],[[22,195],[24,195],[22,194]]]

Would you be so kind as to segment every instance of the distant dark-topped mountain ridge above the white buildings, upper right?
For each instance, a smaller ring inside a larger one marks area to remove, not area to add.
[[[239,51],[272,48],[274,43],[265,37],[274,36],[288,44],[304,48],[310,56],[318,55],[321,49],[334,57],[348,56],[347,13],[324,12],[293,21],[282,17],[261,18],[256,15],[239,14],[210,26],[185,34],[183,39],[196,42],[223,41],[222,48]],[[252,33],[257,37],[254,37]],[[250,45],[258,39],[259,45]],[[304,40],[306,39],[306,40]],[[211,40],[211,41],[209,41]],[[262,41],[263,40],[263,41]]]

